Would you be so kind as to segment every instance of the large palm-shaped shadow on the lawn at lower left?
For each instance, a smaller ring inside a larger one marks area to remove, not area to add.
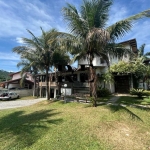
[[[28,148],[40,139],[52,124],[57,125],[61,123],[63,121],[61,118],[51,118],[59,114],[53,111],[42,110],[30,114],[24,114],[24,111],[17,111],[1,118],[1,139],[3,141],[9,140],[9,144],[6,144],[5,149]],[[0,142],[1,144],[3,143]]]

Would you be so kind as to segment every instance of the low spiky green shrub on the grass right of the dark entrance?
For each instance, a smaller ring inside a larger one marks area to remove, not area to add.
[[[146,91],[144,89],[130,89],[131,95],[137,95],[139,98],[142,98],[143,96],[149,96],[150,92]]]

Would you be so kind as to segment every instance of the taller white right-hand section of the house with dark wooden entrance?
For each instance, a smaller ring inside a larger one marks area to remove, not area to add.
[[[131,50],[134,53],[137,53],[137,42],[136,39],[131,39],[128,41],[121,42],[126,49]],[[109,65],[113,65],[118,63],[120,60],[128,62],[130,59],[129,53],[125,53],[122,57],[116,57],[111,54],[107,54],[108,59],[109,59]],[[86,65],[88,66],[88,61],[81,59],[78,61],[78,66],[79,65]],[[108,70],[108,66],[106,61],[98,56],[95,56],[93,60],[93,66],[96,68],[96,73],[97,75],[104,74]],[[133,82],[132,82],[132,77],[131,75],[118,75],[117,72],[114,74],[114,82],[109,83],[106,85],[108,89],[112,93],[117,92],[117,93],[126,93],[129,92],[129,89],[133,87]]]

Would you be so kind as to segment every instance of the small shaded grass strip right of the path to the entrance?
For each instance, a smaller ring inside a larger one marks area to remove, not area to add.
[[[150,98],[145,97],[143,99],[140,99],[138,97],[133,97],[133,96],[121,96],[117,102],[126,105],[132,105],[132,104],[150,105]]]

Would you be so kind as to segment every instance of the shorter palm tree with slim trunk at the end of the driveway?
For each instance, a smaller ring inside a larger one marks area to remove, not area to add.
[[[42,28],[42,35],[40,37],[36,37],[31,31],[28,32],[31,35],[31,39],[22,38],[25,46],[15,47],[13,52],[16,52],[21,55],[22,59],[26,60],[26,64],[23,64],[22,61],[19,65],[24,65],[23,70],[33,68],[35,70],[38,69],[45,71],[46,73],[46,93],[47,100],[50,98],[49,93],[49,84],[48,84],[48,74],[50,68],[54,65],[54,63],[58,62],[55,60],[55,52],[59,47],[59,41],[57,39],[58,32],[55,29],[51,29],[48,32],[45,32]],[[53,57],[54,56],[54,57]],[[63,59],[64,55],[60,55]],[[65,57],[66,58],[66,57]],[[60,60],[59,60],[60,61]],[[34,68],[36,66],[36,68]]]

